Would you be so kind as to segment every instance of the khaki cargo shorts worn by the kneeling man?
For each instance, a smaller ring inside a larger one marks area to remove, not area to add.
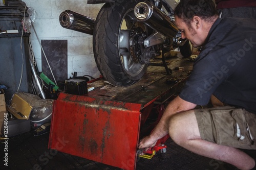
[[[195,110],[202,139],[256,150],[256,114],[231,106]]]

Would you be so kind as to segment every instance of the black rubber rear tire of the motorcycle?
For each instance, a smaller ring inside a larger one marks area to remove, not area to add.
[[[93,34],[94,58],[101,75],[115,86],[130,86],[136,83],[147,69],[147,64],[135,63],[132,61],[132,57],[129,60],[131,62],[128,65],[129,69],[125,69],[124,59],[120,55],[119,34],[121,25],[123,20],[126,19],[124,17],[131,18],[130,15],[133,15],[137,3],[134,1],[106,3],[96,18]],[[127,13],[127,11],[130,12]],[[126,26],[131,27],[131,24],[129,25],[126,22]],[[127,49],[128,54],[130,50]]]

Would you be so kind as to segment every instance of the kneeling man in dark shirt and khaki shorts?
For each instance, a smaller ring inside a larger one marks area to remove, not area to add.
[[[219,18],[212,0],[181,0],[175,20],[182,38],[202,51],[181,93],[139,149],[169,134],[191,152],[252,169],[254,159],[241,149],[256,150],[256,20]],[[195,109],[212,94],[223,106]]]

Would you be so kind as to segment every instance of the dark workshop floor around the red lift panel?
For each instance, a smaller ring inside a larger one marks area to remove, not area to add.
[[[49,133],[34,136],[32,131],[8,139],[8,167],[3,163],[4,144],[1,144],[0,169],[105,169],[120,168],[79,158],[69,154],[48,150]],[[3,140],[2,140],[3,141]],[[137,170],[147,169],[190,169],[190,170],[231,170],[230,165],[191,153],[168,139],[167,152],[157,153],[153,159],[139,158]],[[254,155],[256,155],[254,153]]]

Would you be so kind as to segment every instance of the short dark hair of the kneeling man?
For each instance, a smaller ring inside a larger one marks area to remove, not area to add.
[[[218,12],[212,0],[181,0],[174,14],[190,25],[195,15],[210,21],[213,16],[218,15]]]

